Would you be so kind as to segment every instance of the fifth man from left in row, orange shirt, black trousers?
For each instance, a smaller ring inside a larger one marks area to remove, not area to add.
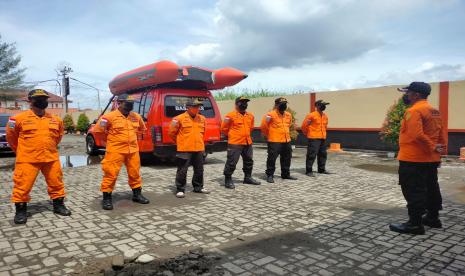
[[[276,159],[280,156],[281,178],[296,180],[291,176],[292,146],[290,128],[292,115],[287,112],[287,100],[280,97],[275,100],[273,111],[268,112],[262,120],[262,134],[268,141],[268,157],[266,160],[266,181],[274,183]]]

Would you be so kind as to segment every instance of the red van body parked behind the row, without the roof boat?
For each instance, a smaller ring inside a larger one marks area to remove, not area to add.
[[[186,111],[186,102],[190,98],[203,100],[200,113],[206,118],[205,153],[227,150],[226,137],[221,134],[221,114],[210,91],[204,89],[186,88],[153,88],[136,93],[131,93],[138,102],[134,103],[134,112],[139,113],[147,125],[147,131],[139,137],[139,150],[141,153],[151,153],[162,160],[173,159],[176,155],[176,145],[168,136],[168,128],[173,117]],[[114,96],[107,110],[114,110]],[[110,107],[111,106],[111,107]],[[86,137],[86,149],[89,155],[98,154],[99,149],[104,149],[106,141],[100,133],[94,133],[90,126]]]

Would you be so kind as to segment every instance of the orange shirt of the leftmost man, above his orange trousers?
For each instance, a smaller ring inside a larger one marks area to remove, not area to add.
[[[38,163],[59,160],[58,144],[64,134],[60,117],[32,110],[13,116],[8,121],[6,139],[16,152],[16,162]]]

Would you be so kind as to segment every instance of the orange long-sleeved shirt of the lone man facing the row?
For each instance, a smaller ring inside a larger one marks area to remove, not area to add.
[[[397,159],[408,162],[440,162],[436,144],[447,145],[441,114],[426,100],[407,109],[399,135]]]

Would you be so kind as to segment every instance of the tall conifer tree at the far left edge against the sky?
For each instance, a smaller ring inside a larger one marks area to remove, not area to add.
[[[19,68],[21,56],[14,43],[2,42],[0,35],[0,89],[21,88],[25,68]]]

